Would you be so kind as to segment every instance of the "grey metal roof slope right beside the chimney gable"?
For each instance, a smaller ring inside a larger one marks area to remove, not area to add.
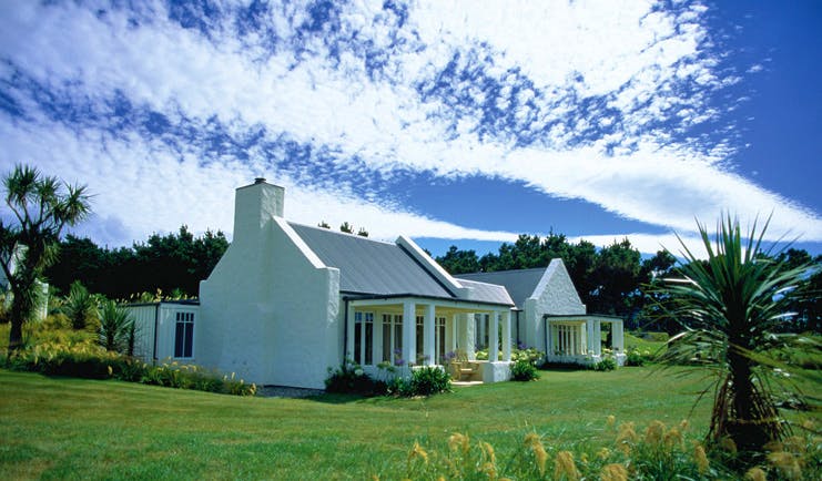
[[[328,267],[339,269],[339,290],[357,294],[454,295],[396,244],[288,223]]]

